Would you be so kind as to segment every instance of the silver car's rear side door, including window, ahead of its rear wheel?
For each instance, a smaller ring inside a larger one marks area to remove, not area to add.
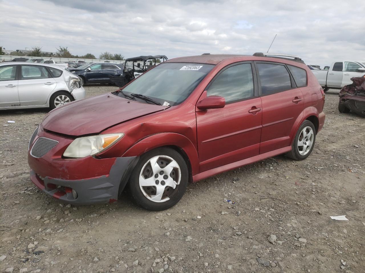
[[[56,81],[45,66],[21,65],[19,101],[21,106],[44,105],[56,87]]]

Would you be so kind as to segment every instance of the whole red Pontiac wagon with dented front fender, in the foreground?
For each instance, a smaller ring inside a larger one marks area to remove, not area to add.
[[[116,92],[49,112],[30,139],[31,180],[72,204],[112,203],[128,187],[142,207],[164,210],[188,182],[279,154],[307,158],[323,105],[298,58],[171,59]]]

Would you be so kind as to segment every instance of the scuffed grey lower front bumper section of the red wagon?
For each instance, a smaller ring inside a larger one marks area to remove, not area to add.
[[[108,175],[77,180],[66,180],[46,176],[40,177],[34,170],[30,172],[31,181],[46,194],[75,205],[113,203],[124,189],[137,157],[119,157]],[[76,191],[77,198],[73,197]]]

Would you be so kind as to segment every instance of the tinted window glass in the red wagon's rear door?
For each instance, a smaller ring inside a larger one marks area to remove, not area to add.
[[[262,95],[269,95],[292,88],[290,76],[285,66],[258,63]]]

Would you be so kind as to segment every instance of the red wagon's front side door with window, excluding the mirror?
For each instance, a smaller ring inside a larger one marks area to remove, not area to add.
[[[223,68],[199,100],[222,96],[224,108],[196,110],[200,171],[259,154],[262,105],[253,63]]]

